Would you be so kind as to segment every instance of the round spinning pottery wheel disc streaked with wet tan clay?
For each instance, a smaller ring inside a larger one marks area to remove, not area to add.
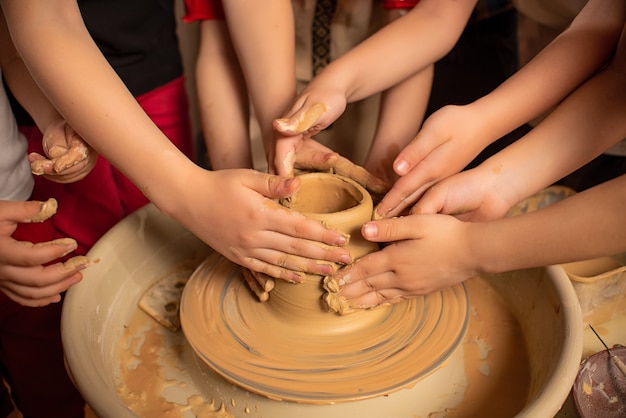
[[[189,279],[180,316],[196,355],[226,380],[271,399],[324,404],[389,394],[445,365],[468,306],[457,285],[360,311],[375,318],[363,326],[328,313],[337,327],[321,333],[259,302],[239,266],[216,254]]]

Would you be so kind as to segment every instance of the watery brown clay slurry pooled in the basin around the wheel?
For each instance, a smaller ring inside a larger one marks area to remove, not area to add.
[[[513,417],[525,405],[530,379],[528,354],[519,324],[485,280],[469,279],[466,288],[471,302],[469,327],[462,343],[467,388],[455,408],[432,411],[430,416]],[[269,399],[245,391],[235,399],[231,395],[233,386],[225,380],[214,387],[213,378],[207,379],[208,383],[190,378],[189,370],[195,363],[189,360],[193,354],[188,352],[191,347],[182,332],[165,329],[140,309],[136,309],[125,327],[118,350],[117,393],[137,416],[178,418],[188,417],[185,414],[190,413],[208,418],[277,416],[266,409],[273,402]],[[202,372],[205,373],[209,372]],[[443,393],[447,388],[444,383],[432,388],[429,394]],[[186,394],[174,401],[171,396],[174,390],[185,390]],[[245,404],[241,399],[246,400]],[[419,394],[413,396],[416,411],[421,399]],[[205,410],[197,409],[202,406]],[[332,413],[333,408],[342,406],[327,407]],[[302,411],[296,411],[291,416],[304,416]],[[386,412],[381,409],[370,416],[390,416]],[[319,416],[336,416],[328,413]]]

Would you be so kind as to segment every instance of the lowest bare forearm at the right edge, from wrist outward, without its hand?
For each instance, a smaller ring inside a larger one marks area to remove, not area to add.
[[[626,176],[554,205],[469,228],[481,270],[499,273],[626,251]]]

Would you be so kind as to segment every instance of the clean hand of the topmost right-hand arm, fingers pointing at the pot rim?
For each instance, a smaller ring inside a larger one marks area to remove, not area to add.
[[[394,161],[400,178],[377,206],[376,217],[398,216],[430,186],[471,162],[486,146],[479,120],[467,106],[446,106],[431,115]]]

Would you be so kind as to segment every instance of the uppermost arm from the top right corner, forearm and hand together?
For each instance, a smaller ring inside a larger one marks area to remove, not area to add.
[[[394,170],[403,177],[377,214],[401,213],[495,139],[557,105],[606,64],[625,20],[623,1],[591,0],[567,30],[491,94],[433,114],[394,162]]]

